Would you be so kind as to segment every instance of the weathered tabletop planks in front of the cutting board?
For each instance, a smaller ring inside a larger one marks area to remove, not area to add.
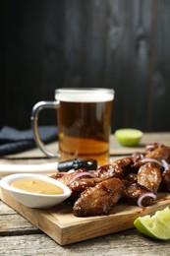
[[[164,256],[169,256],[169,241],[151,240],[136,228],[60,246],[2,201],[0,209],[0,252],[3,256],[93,256],[98,252],[101,256],[159,256],[162,251]]]

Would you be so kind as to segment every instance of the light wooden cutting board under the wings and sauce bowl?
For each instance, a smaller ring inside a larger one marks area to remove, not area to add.
[[[170,194],[162,193],[150,207],[141,209],[122,202],[114,207],[113,213],[109,216],[81,218],[75,217],[72,208],[64,203],[50,210],[37,210],[18,203],[4,189],[1,189],[0,196],[28,222],[40,228],[60,245],[131,228],[139,216],[153,214],[157,210],[170,206]]]

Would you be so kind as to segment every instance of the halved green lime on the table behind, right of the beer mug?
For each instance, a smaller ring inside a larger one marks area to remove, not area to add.
[[[115,131],[115,137],[123,146],[137,146],[142,139],[142,131],[137,129],[119,129]]]

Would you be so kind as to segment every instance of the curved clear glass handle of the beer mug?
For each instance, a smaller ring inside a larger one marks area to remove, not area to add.
[[[33,106],[32,112],[31,112],[31,117],[30,117],[31,129],[33,132],[35,144],[48,158],[59,158],[59,154],[49,152],[45,148],[45,145],[42,142],[40,135],[39,135],[39,131],[38,131],[38,117],[39,117],[39,112],[42,109],[44,109],[44,108],[56,109],[58,104],[59,104],[59,101],[57,101],[57,100],[56,101],[39,101]]]

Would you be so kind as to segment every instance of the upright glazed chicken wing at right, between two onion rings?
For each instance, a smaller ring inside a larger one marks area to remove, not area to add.
[[[138,171],[138,183],[156,194],[162,180],[160,170],[161,166],[155,162],[144,163]]]

